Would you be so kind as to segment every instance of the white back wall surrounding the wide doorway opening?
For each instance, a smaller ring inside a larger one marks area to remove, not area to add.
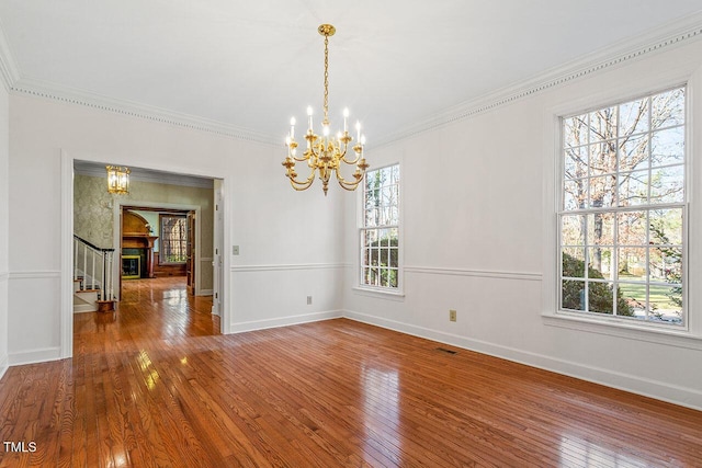
[[[70,247],[60,233],[70,222],[61,219],[61,191],[72,182],[61,180],[61,155],[224,179],[225,251],[237,244],[241,252],[225,256],[226,331],[304,321],[340,308],[339,295],[330,293],[339,275],[327,274],[341,272],[340,198],[325,198],[320,190],[295,193],[281,165],[282,146],[45,98],[12,94],[10,109],[10,364],[70,355],[70,330],[61,331],[61,255]],[[281,307],[310,294],[317,294],[312,306]]]

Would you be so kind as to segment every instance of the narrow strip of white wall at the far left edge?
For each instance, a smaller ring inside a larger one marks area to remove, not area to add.
[[[0,84],[0,377],[8,368],[9,96]]]

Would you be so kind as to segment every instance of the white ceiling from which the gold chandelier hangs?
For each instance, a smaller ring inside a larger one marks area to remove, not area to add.
[[[291,116],[319,115],[317,26],[331,23],[332,125],[346,105],[372,145],[701,13],[700,0],[2,0],[0,58],[15,90],[282,141]]]

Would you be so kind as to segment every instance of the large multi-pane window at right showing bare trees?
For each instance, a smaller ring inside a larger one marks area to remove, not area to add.
[[[686,89],[562,122],[561,310],[684,324]]]

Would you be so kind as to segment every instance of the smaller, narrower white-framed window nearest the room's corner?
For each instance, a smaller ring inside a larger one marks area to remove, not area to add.
[[[399,287],[399,164],[367,171],[363,185],[361,285]]]

